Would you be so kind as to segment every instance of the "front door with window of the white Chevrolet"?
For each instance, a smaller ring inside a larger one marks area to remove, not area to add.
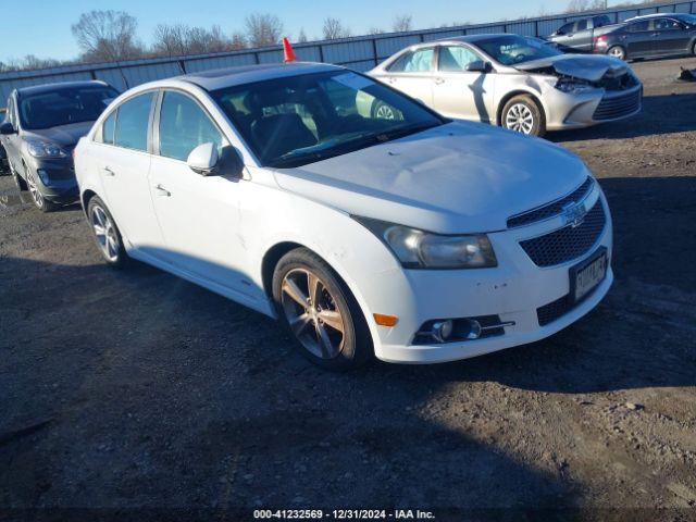
[[[150,169],[150,191],[166,244],[178,269],[239,295],[251,295],[244,277],[239,198],[248,182],[202,176],[186,160],[199,145],[228,144],[206,110],[188,95],[165,91],[159,117],[159,154]]]

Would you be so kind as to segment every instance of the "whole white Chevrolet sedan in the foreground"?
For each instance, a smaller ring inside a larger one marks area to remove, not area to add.
[[[399,116],[361,115],[365,97]],[[333,65],[136,87],[75,166],[107,263],[135,258],[278,318],[326,368],[542,339],[613,278],[607,201],[575,156]]]

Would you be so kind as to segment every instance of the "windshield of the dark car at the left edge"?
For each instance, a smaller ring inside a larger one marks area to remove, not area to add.
[[[26,130],[94,122],[119,96],[112,87],[70,87],[22,96],[20,120]]]

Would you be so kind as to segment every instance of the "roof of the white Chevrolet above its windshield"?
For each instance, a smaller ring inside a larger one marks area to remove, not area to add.
[[[238,67],[215,69],[212,71],[177,76],[175,79],[195,84],[206,90],[216,90],[225,87],[263,82],[266,79],[345,70],[345,67],[330,65],[326,63],[272,63],[263,65],[245,65]]]

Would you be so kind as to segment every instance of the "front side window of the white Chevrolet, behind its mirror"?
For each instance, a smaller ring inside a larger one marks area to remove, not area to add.
[[[223,136],[208,114],[191,98],[167,91],[160,110],[160,154],[186,161],[202,144],[215,144],[220,152]]]

